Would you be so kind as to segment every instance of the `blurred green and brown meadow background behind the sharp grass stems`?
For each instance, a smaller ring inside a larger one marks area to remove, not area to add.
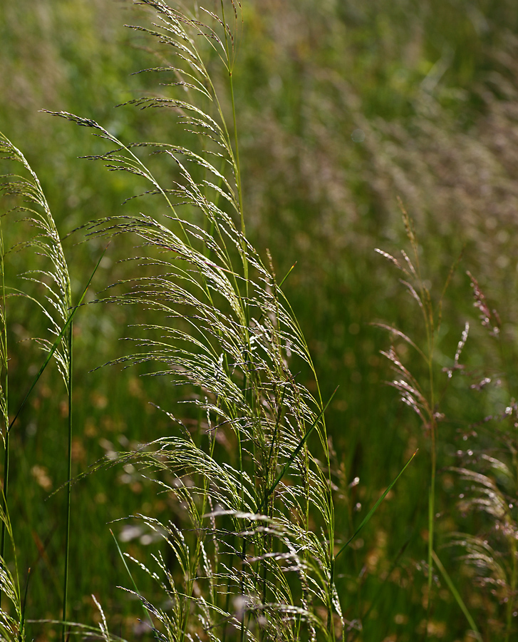
[[[247,233],[263,257],[270,250],[279,278],[296,263],[284,290],[309,342],[323,397],[340,386],[327,416],[336,493],[346,507],[338,518],[342,539],[420,449],[343,555],[337,586],[344,616],[363,621],[363,631],[351,629],[350,638],[415,640],[423,636],[426,620],[429,435],[385,384],[391,373],[380,350],[388,348],[390,337],[373,325],[395,325],[425,345],[415,300],[400,284],[400,273],[374,252],[410,253],[399,197],[415,222],[423,279],[436,305],[460,258],[445,295],[435,354],[437,390],[445,391],[437,395],[437,412],[445,419],[439,426],[436,550],[484,639],[502,639],[505,605],[497,589],[492,594],[494,587],[476,584],[462,551],[447,546],[455,531],[484,534],[492,528],[481,514],[462,516],[456,504],[462,482],[448,467],[462,460],[457,453],[471,443],[472,437],[463,437],[472,426],[504,412],[518,384],[516,4],[244,0],[243,14],[234,82]],[[114,108],[161,91],[156,75],[131,75],[155,64],[148,51],[153,44],[123,26],[144,20],[140,9],[124,1],[0,4],[0,131],[26,154],[63,236],[88,220],[120,212],[121,203],[143,185],[108,173],[100,163],[78,160],[103,150],[101,141],[39,109],[93,118],[125,142],[182,140],[166,111]],[[138,200],[130,200],[122,211],[138,208]],[[7,245],[19,235],[13,221],[11,216],[2,224]],[[99,240],[83,240],[79,230],[65,243],[75,297],[103,249]],[[126,267],[118,261],[133,253],[127,240],[110,245],[94,290],[123,278]],[[12,275],[24,270],[16,253],[6,269]],[[497,307],[498,342],[477,319],[467,270]],[[23,339],[41,320],[28,321],[27,307],[14,315],[19,317],[9,337],[11,393],[21,399],[29,380],[22,366],[41,358]],[[141,320],[138,312],[90,305],[77,318],[73,462],[80,474],[105,454],[168,434],[167,417],[148,402],[172,409],[182,392],[140,377],[143,371],[90,372],[124,354],[118,339]],[[442,368],[452,365],[467,320],[467,376],[449,383]],[[403,345],[400,350],[403,355]],[[405,364],[426,389],[425,365],[407,352]],[[502,385],[484,392],[470,387],[488,372]],[[46,375],[14,437],[11,519],[22,577],[32,569],[29,618],[57,618],[61,604],[64,535],[57,511],[64,492],[47,499],[66,481],[66,407],[63,417],[56,412],[66,398],[60,391],[56,373]],[[477,428],[474,448],[499,452],[514,465],[511,447],[498,450],[491,426]],[[510,434],[507,442],[512,439]],[[72,510],[71,619],[91,621],[95,593],[113,633],[136,636],[132,627],[138,627],[141,613],[116,588],[130,586],[130,580],[107,523],[137,512],[163,516],[175,506],[132,469],[115,467],[79,481]],[[126,551],[148,558],[149,537],[130,531],[127,522],[111,528]],[[139,582],[143,593],[152,591],[145,575]],[[433,604],[429,638],[472,639],[440,576]],[[32,632],[41,640],[56,634],[39,625]]]

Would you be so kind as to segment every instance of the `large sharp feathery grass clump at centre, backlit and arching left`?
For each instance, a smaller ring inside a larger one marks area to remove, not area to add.
[[[147,71],[165,74],[170,94],[131,102],[169,108],[192,146],[125,144],[94,121],[56,115],[113,146],[91,158],[138,175],[150,185],[148,197],[162,197],[148,198],[138,216],[114,215],[90,228],[140,238],[138,276],[106,300],[148,310],[150,321],[130,338],[137,350],[119,362],[147,362],[150,374],[184,386],[193,407],[184,412],[197,418],[196,429],[187,429],[161,401],[171,436],[128,454],[181,507],[170,524],[142,516],[175,558],[169,566],[159,554],[157,568],[149,565],[170,609],[142,596],[143,603],[168,640],[334,639],[343,619],[333,576],[326,404],[318,384],[315,396],[290,369],[294,361],[314,372],[271,261],[264,265],[245,234],[232,86],[240,6],[226,0],[212,3],[217,10],[195,4],[190,12],[138,4],[155,24],[133,29],[165,44],[171,60],[162,56]],[[204,63],[214,52],[228,81],[226,101]],[[152,170],[145,151],[161,153],[167,171]]]

